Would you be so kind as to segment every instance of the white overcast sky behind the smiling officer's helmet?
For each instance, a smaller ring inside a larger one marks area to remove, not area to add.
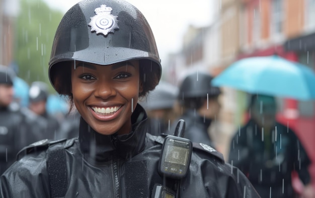
[[[80,0],[44,0],[54,9],[66,12]],[[191,24],[210,25],[213,2],[220,0],[127,0],[137,7],[151,26],[162,64],[170,52],[181,48],[183,34]]]

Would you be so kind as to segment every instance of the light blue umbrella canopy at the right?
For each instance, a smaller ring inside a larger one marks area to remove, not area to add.
[[[307,66],[277,55],[244,58],[232,63],[212,81],[249,93],[315,99],[315,74]]]

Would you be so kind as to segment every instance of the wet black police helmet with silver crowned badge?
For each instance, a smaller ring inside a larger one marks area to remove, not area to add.
[[[83,0],[63,16],[53,41],[49,79],[59,94],[71,95],[75,60],[108,65],[139,60],[143,92],[159,83],[162,68],[154,36],[141,12],[123,0]]]

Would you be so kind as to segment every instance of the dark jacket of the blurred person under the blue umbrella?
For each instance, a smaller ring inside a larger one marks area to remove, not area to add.
[[[228,162],[249,177],[261,197],[293,197],[294,170],[304,184],[310,180],[310,160],[302,144],[290,128],[278,122],[266,138],[250,119],[231,140]]]

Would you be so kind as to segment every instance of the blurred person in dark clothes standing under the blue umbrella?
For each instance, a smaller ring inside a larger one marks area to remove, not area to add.
[[[250,118],[230,143],[228,162],[248,176],[261,197],[297,197],[292,171],[305,185],[301,197],[314,197],[308,166],[310,160],[294,131],[276,121],[273,96],[254,94]]]

